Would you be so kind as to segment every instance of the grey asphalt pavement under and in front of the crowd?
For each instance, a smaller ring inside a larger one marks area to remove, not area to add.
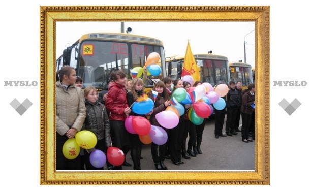
[[[225,124],[223,132],[225,133]],[[241,121],[240,127],[241,129]],[[187,141],[188,142],[188,141]],[[201,144],[203,154],[198,154],[191,159],[181,158],[184,164],[174,165],[170,159],[164,163],[167,171],[254,171],[255,170],[255,140],[254,142],[242,142],[241,132],[238,135],[215,138],[214,120],[207,119]],[[142,146],[141,171],[158,171],[151,157],[151,144]],[[134,171],[130,152],[126,156],[131,167],[122,166],[123,171]],[[107,169],[105,169],[107,170]]]

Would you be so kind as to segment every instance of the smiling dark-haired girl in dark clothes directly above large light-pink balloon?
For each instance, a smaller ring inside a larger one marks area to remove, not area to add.
[[[155,101],[154,101],[153,112],[150,115],[150,123],[152,125],[155,125],[155,126],[160,126],[166,132],[168,132],[167,129],[165,129],[163,126],[160,125],[158,120],[155,118],[155,115],[164,111],[166,109],[166,107],[168,107],[170,105],[169,94],[166,91],[165,84],[162,81],[155,83],[152,90],[157,91],[158,96],[157,96],[157,98],[155,98]],[[149,92],[149,98],[154,100],[152,91]],[[158,148],[159,148],[159,152],[158,152]],[[166,143],[163,145],[157,145],[153,142],[151,143],[151,155],[152,155],[152,159],[154,162],[154,166],[157,170],[167,170],[167,167],[164,164],[165,150],[166,150]]]

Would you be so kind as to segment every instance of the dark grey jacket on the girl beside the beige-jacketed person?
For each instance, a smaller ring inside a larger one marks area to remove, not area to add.
[[[83,130],[94,133],[98,140],[105,139],[106,146],[111,146],[109,116],[105,106],[97,101],[92,104],[85,101],[86,117]]]

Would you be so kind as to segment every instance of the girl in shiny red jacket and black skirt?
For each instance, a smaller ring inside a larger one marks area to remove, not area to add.
[[[127,102],[127,78],[121,71],[113,72],[110,77],[112,81],[109,84],[105,105],[109,111],[111,142],[114,147],[127,154],[131,149],[130,133],[125,128],[125,119],[131,112]],[[113,169],[122,170],[122,166],[118,165]]]

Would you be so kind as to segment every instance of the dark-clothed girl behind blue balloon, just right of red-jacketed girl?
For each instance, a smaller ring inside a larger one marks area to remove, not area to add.
[[[135,78],[132,81],[131,90],[127,93],[127,101],[129,106],[132,106],[132,104],[144,93],[143,91],[143,81],[140,78]],[[152,111],[149,114],[146,115],[140,115],[135,113],[133,110],[131,111],[130,115],[132,116],[141,116],[145,117],[149,116],[152,113]],[[140,159],[141,159],[141,146],[142,143],[139,139],[138,134],[130,134],[130,140],[131,140],[131,157],[133,160],[133,168],[134,170],[141,170],[140,168]]]

